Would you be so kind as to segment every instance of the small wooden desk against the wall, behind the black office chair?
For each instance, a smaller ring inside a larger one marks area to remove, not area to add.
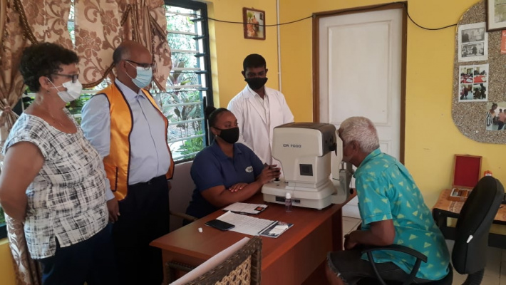
[[[455,240],[455,227],[448,226],[448,218],[458,219],[460,215],[460,209],[462,209],[465,201],[450,201],[451,189],[446,189],[441,192],[438,198],[438,202],[432,209],[432,214],[435,223],[438,225],[441,232],[445,236],[445,239]],[[494,217],[494,224],[506,224],[506,207],[501,207],[497,211]],[[488,245],[490,247],[498,247],[506,249],[506,236],[503,234],[495,234],[490,232],[488,234]]]

